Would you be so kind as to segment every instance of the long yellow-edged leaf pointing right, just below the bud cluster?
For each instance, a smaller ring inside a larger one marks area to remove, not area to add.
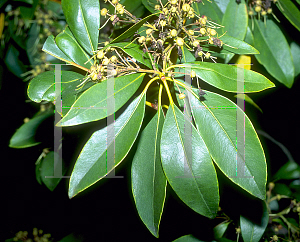
[[[240,92],[240,90],[237,90],[240,80],[237,80],[238,67],[236,66],[196,61],[176,65],[176,67],[194,70],[196,75],[203,81],[221,90]],[[244,85],[245,93],[259,92],[275,86],[263,75],[246,69],[244,70],[244,82],[241,85]]]

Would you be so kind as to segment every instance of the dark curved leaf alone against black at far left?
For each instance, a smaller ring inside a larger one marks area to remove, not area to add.
[[[38,145],[40,142],[35,140],[36,130],[39,125],[48,117],[53,115],[53,110],[37,113],[27,123],[24,123],[11,137],[9,147],[27,148]]]

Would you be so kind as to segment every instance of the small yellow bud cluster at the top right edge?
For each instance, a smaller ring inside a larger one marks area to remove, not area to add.
[[[271,3],[276,3],[278,0],[253,0],[249,2],[249,16],[257,15],[258,17],[273,14]]]

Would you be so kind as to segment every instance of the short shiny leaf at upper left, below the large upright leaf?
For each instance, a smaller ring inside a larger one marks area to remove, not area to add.
[[[76,64],[88,69],[93,65],[92,60],[87,62],[90,59],[90,56],[79,45],[69,27],[66,27],[63,32],[56,36],[55,42],[58,48],[60,48],[61,51],[70,57]]]

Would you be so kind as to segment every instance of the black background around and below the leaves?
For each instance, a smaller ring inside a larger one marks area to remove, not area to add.
[[[284,18],[280,20],[281,26],[288,32],[289,41],[300,39],[294,27]],[[297,36],[294,33],[297,33]],[[254,69],[257,69],[255,59],[253,64]],[[24,101],[29,100],[26,93],[27,83],[7,71],[2,60],[1,66],[3,68],[0,90],[2,104],[0,241],[13,237],[19,230],[30,232],[34,227],[43,229],[45,233],[51,233],[56,240],[69,233],[81,234],[85,241],[157,240],[144,226],[135,209],[130,186],[133,152],[130,152],[122,165],[116,169],[116,175],[124,176],[124,179],[103,180],[71,200],[67,196],[68,179],[63,179],[54,192],[37,183],[34,163],[43,148],[53,146],[53,129],[49,130],[53,121],[48,120],[48,123],[46,122],[38,131],[38,139],[43,141],[42,145],[27,149],[8,147],[11,136],[23,124],[23,119],[31,118],[39,106]],[[276,87],[250,95],[263,110],[263,114],[249,104],[246,104],[246,113],[256,129],[265,131],[285,145],[298,162],[299,80],[295,80],[293,87],[288,89],[274,81],[264,69],[258,71],[273,81]],[[233,95],[229,97],[232,98]],[[90,127],[95,128],[97,124]],[[76,157],[92,133],[91,130],[81,128],[64,130],[66,139],[63,142],[63,157],[70,162],[69,175]],[[269,174],[274,174],[288,159],[277,145],[262,136],[260,139],[266,153]],[[245,199],[249,197],[246,194],[244,194],[246,198],[241,196],[239,188],[230,187],[230,183],[220,172],[218,176],[220,206],[235,219],[239,209],[245,206]],[[193,212],[168,188],[160,226],[160,240],[172,241],[185,234],[193,234],[203,240],[210,239],[212,226],[221,221],[218,219],[212,221]],[[233,228],[232,236],[235,236]]]

